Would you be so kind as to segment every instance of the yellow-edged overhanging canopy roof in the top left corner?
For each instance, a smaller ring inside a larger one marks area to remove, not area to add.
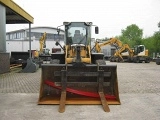
[[[34,18],[12,0],[0,0],[6,7],[6,24],[33,23]]]

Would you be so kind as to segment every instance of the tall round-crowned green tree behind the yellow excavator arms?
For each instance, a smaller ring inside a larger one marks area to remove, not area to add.
[[[121,33],[120,40],[124,43],[127,43],[132,47],[141,44],[143,30],[136,24],[127,26],[125,29],[122,29]]]

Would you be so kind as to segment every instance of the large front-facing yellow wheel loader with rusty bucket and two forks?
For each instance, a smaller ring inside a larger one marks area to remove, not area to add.
[[[51,54],[50,64],[42,64],[38,104],[59,104],[59,112],[65,104],[119,105],[117,66],[107,65],[103,53],[93,53],[92,22],[64,22],[65,45],[63,53]],[[60,27],[57,27],[58,34]]]

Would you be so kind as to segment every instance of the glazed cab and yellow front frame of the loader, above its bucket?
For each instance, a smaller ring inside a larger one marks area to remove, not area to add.
[[[91,63],[91,22],[64,22],[65,26],[65,61],[84,65]]]

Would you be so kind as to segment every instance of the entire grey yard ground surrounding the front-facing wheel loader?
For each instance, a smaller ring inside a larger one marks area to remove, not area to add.
[[[37,105],[41,70],[0,75],[0,120],[160,120],[160,66],[117,64],[121,105]]]

